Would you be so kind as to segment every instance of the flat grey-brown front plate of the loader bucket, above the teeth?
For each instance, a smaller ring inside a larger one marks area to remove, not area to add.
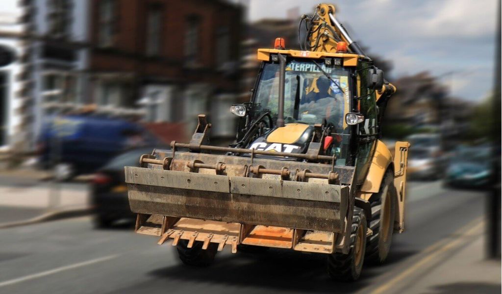
[[[126,169],[133,212],[339,232],[338,185]]]

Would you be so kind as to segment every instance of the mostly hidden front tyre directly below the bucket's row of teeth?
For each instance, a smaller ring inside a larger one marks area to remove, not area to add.
[[[208,266],[218,250],[218,244],[209,243],[207,249],[202,249],[203,242],[195,241],[192,248],[187,248],[188,240],[179,240],[176,249],[181,261],[191,266]]]

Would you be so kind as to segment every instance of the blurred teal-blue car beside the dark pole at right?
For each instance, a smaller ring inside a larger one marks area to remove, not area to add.
[[[491,177],[491,163],[489,147],[461,148],[450,160],[445,185],[453,188],[486,188]]]

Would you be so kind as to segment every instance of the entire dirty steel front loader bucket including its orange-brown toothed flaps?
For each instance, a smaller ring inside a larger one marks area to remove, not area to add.
[[[138,233],[161,236],[159,243],[230,244],[232,251],[243,243],[333,252],[336,234],[345,226],[353,168],[190,152],[176,152],[176,159],[168,155],[155,151],[142,157],[142,167],[126,167]]]

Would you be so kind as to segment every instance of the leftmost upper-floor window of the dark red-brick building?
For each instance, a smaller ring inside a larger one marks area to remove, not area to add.
[[[116,9],[115,0],[99,1],[98,44],[100,47],[113,46]]]

